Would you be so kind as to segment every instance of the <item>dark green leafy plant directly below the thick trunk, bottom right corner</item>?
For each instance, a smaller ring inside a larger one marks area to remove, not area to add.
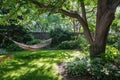
[[[119,67],[102,58],[92,59],[89,70],[93,80],[119,80],[120,78]]]

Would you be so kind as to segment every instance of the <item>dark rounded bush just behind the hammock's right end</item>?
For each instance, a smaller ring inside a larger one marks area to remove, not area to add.
[[[58,45],[62,41],[71,40],[72,34],[67,29],[57,27],[50,31],[50,36],[53,38],[52,45]]]

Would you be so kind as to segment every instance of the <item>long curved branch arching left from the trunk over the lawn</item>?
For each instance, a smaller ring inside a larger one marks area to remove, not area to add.
[[[38,2],[38,1],[36,1],[36,0],[29,0],[29,1],[32,2],[33,4],[39,6],[40,8],[45,8],[45,9],[47,9],[48,11],[51,11],[51,8],[54,7],[54,6],[52,6],[52,5],[44,4],[44,3]],[[66,11],[66,10],[63,10],[63,9],[58,9],[58,10],[57,10],[56,12],[54,12],[54,13],[61,13],[61,14],[63,14],[63,15],[66,15],[66,16],[69,16],[69,17],[78,19],[78,21],[79,21],[79,22],[81,23],[81,25],[83,26],[86,39],[88,40],[88,42],[89,42],[90,44],[92,44],[93,39],[92,39],[90,30],[89,30],[89,28],[88,28],[88,24],[87,24],[86,20],[84,20],[77,12],[75,12],[75,11],[70,11],[70,12],[69,12],[69,11]]]

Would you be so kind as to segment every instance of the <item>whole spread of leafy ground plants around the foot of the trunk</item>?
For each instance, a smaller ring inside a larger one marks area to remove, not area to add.
[[[116,50],[112,50],[116,52]],[[99,58],[77,57],[68,62],[66,71],[68,75],[82,78],[87,76],[90,77],[90,80],[119,80],[120,54],[116,54],[116,57],[112,58],[114,55],[112,53],[109,55],[109,53],[107,52],[104,54],[105,57],[102,55]]]

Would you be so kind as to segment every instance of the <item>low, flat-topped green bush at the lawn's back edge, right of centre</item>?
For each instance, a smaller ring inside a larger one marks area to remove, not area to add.
[[[78,47],[77,41],[63,41],[57,46],[58,49],[77,49]]]

